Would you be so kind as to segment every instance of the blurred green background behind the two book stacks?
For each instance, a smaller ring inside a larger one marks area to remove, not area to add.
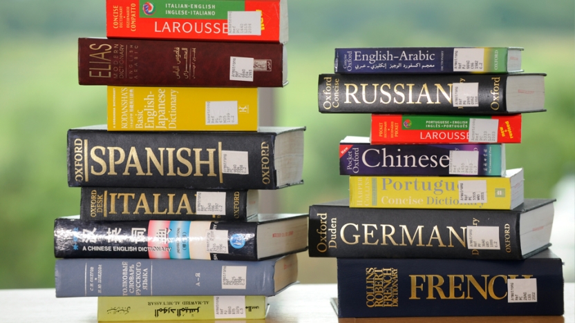
[[[79,189],[66,182],[66,130],[106,121],[106,89],[77,84],[76,57],[77,37],[105,37],[104,0],[2,4],[0,288],[51,287],[53,219],[79,212]],[[332,72],[336,47],[524,47],[525,71],[547,73],[548,111],[524,116],[522,144],[507,146],[508,168],[525,168],[526,197],[552,197],[560,179],[573,178],[573,0],[289,0],[288,7],[290,84],[275,92],[275,123],[308,130],[305,185],[277,192],[282,212],[346,197],[337,144],[346,135],[368,135],[368,115],[317,110],[317,78]],[[558,204],[570,206],[574,198]],[[564,223],[570,239],[573,212]],[[302,282],[335,282],[334,260],[303,255],[300,268]]]

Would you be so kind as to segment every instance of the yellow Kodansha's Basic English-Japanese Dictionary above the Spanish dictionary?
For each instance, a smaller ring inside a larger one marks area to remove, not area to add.
[[[258,88],[108,86],[111,131],[257,131]]]

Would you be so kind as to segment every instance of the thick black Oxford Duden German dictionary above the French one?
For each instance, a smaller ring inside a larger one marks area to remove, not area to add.
[[[549,246],[553,199],[507,211],[310,206],[310,257],[521,260]]]

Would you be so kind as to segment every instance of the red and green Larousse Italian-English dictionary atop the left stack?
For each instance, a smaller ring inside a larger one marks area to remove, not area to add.
[[[267,41],[287,37],[287,8],[280,0],[106,0],[110,38]]]

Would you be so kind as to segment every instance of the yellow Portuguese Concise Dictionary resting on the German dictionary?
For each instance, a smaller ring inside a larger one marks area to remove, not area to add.
[[[350,176],[350,208],[486,208],[523,203],[523,169],[505,177]]]

